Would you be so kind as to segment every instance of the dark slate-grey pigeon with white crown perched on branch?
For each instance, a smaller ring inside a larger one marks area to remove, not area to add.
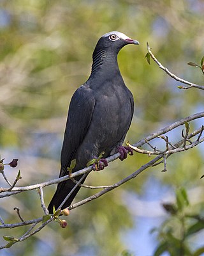
[[[91,75],[75,91],[69,104],[59,177],[69,174],[68,168],[73,159],[76,164],[72,172],[77,172],[103,152],[103,158],[94,163],[94,170],[103,170],[108,165],[106,157],[119,152],[119,158],[123,160],[127,154],[133,154],[122,143],[133,118],[134,100],[122,79],[117,61],[120,49],[131,44],[138,45],[139,42],[119,31],[111,31],[99,38],[92,54]],[[81,184],[86,177],[80,181]],[[81,178],[82,175],[75,180]],[[57,185],[48,205],[50,214],[59,208],[75,185],[71,179]],[[61,210],[71,205],[79,189],[77,186],[72,191]]]

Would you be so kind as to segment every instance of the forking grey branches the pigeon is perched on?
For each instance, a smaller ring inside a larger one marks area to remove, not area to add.
[[[149,145],[154,151],[149,151],[147,153],[152,154],[152,155],[156,154],[158,156],[156,156],[154,159],[152,159],[148,163],[143,164],[143,166],[141,166],[138,170],[136,170],[134,173],[132,173],[128,177],[125,177],[124,179],[120,180],[119,182],[116,182],[115,184],[113,184],[111,186],[98,186],[98,187],[96,186],[96,187],[94,187],[94,186],[83,185],[86,188],[90,188],[90,189],[92,189],[92,188],[99,189],[100,188],[103,190],[99,191],[98,193],[96,193],[92,196],[89,196],[88,198],[85,198],[84,200],[82,200],[80,202],[77,202],[76,204],[71,205],[69,207],[69,209],[70,210],[75,209],[75,208],[79,207],[80,205],[86,204],[87,202],[90,202],[96,198],[99,198],[101,195],[105,195],[105,193],[108,193],[109,191],[112,191],[113,189],[121,186],[122,184],[128,182],[129,180],[134,179],[141,172],[143,172],[144,170],[147,170],[147,168],[149,168],[149,167],[153,167],[153,166],[156,166],[157,164],[164,163],[164,170],[166,170],[166,159],[169,156],[171,156],[171,154],[175,154],[177,152],[182,152],[184,150],[188,150],[190,148],[196,147],[198,144],[203,142],[203,140],[204,140],[204,138],[202,137],[203,126],[200,127],[200,129],[197,129],[196,131],[191,132],[191,134],[188,134],[188,132],[187,132],[187,134],[184,136],[184,138],[182,140],[180,140],[179,142],[175,143],[174,145],[172,145],[172,143],[169,141],[167,136],[162,136],[162,134],[166,134],[166,132],[172,131],[173,129],[175,129],[176,127],[179,127],[180,125],[184,125],[187,122],[191,122],[193,120],[196,120],[198,118],[203,118],[203,117],[204,117],[204,111],[201,113],[196,113],[191,116],[187,116],[186,118],[183,118],[171,125],[168,125],[168,126],[164,127],[163,129],[150,134],[149,136],[147,136],[147,138],[144,138],[143,140],[140,140],[137,143],[135,143],[133,145],[133,147],[136,147],[136,148],[141,147],[142,145],[145,145],[145,144]],[[186,145],[186,142],[184,143],[185,140],[189,141],[191,138],[193,138],[196,135],[198,135],[198,138],[196,141],[193,141],[189,145]],[[156,148],[152,147],[149,143],[149,141],[154,140],[158,136],[160,136],[160,138],[162,138],[164,141],[166,141],[166,150],[165,151],[158,151]],[[181,145],[182,145],[182,147],[180,147]],[[117,154],[114,154],[113,156],[108,157],[106,160],[108,162],[111,162],[111,161],[114,161],[115,159],[117,159],[119,156],[120,156],[120,154],[117,153]],[[163,160],[159,161],[161,159],[163,159]],[[38,193],[40,195],[41,207],[43,208],[45,216],[48,216],[49,220],[44,221],[40,225],[40,227],[38,227],[34,230],[36,225],[38,223],[40,223],[40,221],[44,220],[43,218],[38,218],[38,219],[34,219],[34,220],[29,220],[29,221],[23,221],[23,219],[21,219],[22,222],[12,223],[12,224],[5,224],[3,219],[0,218],[0,222],[2,223],[2,225],[0,225],[0,228],[15,228],[15,227],[22,227],[25,225],[31,225],[31,227],[27,230],[27,232],[25,232],[25,234],[23,234],[19,239],[13,238],[13,241],[9,242],[5,246],[1,246],[0,249],[7,248],[8,246],[13,245],[14,243],[24,241],[25,239],[36,234],[37,232],[40,232],[40,230],[42,228],[44,228],[48,223],[50,223],[50,221],[55,220],[55,218],[52,218],[52,215],[48,214],[47,207],[45,206],[44,197],[43,197],[43,188],[45,186],[50,186],[52,184],[58,184],[59,182],[62,182],[64,180],[68,180],[68,179],[74,180],[75,177],[77,177],[78,175],[87,175],[91,171],[92,171],[92,166],[89,166],[87,168],[79,170],[75,173],[71,173],[71,174],[61,177],[59,179],[49,180],[47,182],[41,182],[39,184],[34,184],[31,186],[24,186],[24,187],[16,187],[15,186],[16,182],[14,182],[15,184],[11,185],[12,188],[11,188],[11,186],[10,186],[10,188],[1,188],[0,189],[0,193],[1,193],[0,197],[11,196],[11,195],[15,195],[17,193],[21,193],[23,191],[30,191],[33,189],[38,189]],[[18,175],[17,175],[17,177],[18,177]],[[76,183],[77,183],[76,186],[82,186],[82,184],[80,184],[82,179],[84,179],[84,176],[82,176],[82,178],[79,181],[76,180]],[[64,200],[67,200],[70,195],[71,195],[71,193],[69,193],[69,195]],[[64,204],[64,202],[62,202],[62,204]]]

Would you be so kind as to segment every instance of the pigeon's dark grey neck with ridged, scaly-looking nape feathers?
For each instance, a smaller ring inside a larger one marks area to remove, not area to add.
[[[105,72],[114,76],[120,74],[119,65],[117,63],[117,54],[112,52],[106,52],[105,49],[101,49],[93,54],[93,63],[91,68],[91,76],[94,76],[96,72]]]

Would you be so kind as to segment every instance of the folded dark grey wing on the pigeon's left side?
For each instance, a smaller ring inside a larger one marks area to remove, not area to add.
[[[67,174],[67,168],[87,134],[95,104],[96,100],[92,97],[91,89],[86,86],[78,88],[71,98],[61,150],[59,177]]]

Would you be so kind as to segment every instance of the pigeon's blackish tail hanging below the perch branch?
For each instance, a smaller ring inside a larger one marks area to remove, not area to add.
[[[81,179],[82,176],[78,176],[76,180]],[[82,180],[81,184],[84,183],[86,177]],[[55,194],[48,205],[48,211],[50,214],[53,213],[53,207],[55,206],[55,209],[59,207],[59,205],[62,204],[64,201],[64,198],[69,194],[71,189],[73,189],[76,186],[76,184],[72,180],[66,180],[57,185],[57,190],[55,191]],[[78,191],[80,189],[80,186],[77,186],[73,193],[69,196],[68,200],[62,205],[61,209],[65,209],[71,205],[71,202],[74,200],[75,196],[77,195]]]

